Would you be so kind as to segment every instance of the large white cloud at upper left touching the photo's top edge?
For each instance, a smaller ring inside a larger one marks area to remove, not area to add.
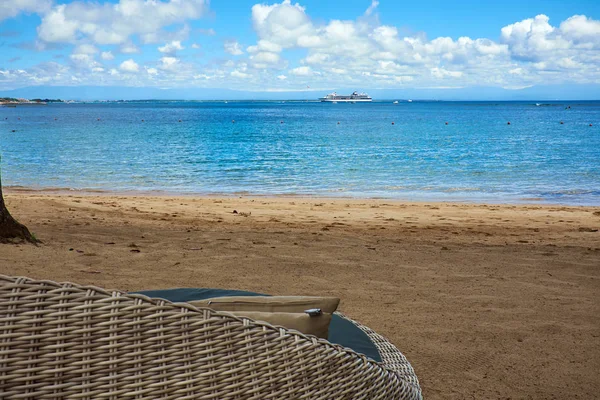
[[[200,18],[207,12],[205,0],[120,0],[116,4],[74,1],[56,5],[45,14],[38,35],[53,43],[73,43],[85,37],[96,44],[114,45],[126,43],[133,35],[148,42],[164,27]]]

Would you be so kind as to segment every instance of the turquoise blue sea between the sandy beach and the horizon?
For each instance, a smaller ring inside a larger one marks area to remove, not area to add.
[[[0,152],[7,186],[600,204],[600,102],[0,107]]]

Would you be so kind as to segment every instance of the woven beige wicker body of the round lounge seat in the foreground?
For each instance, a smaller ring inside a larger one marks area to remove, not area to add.
[[[0,275],[0,398],[420,399],[406,358],[356,324],[382,363],[186,303]]]

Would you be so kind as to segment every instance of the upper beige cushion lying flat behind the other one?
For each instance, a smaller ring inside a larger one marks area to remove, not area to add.
[[[320,308],[324,313],[333,314],[340,304],[340,299],[311,296],[229,296],[195,300],[190,304],[217,311],[303,313],[305,310]]]

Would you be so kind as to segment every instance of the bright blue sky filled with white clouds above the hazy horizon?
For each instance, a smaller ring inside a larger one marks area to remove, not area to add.
[[[600,1],[0,0],[0,91],[598,84]]]

